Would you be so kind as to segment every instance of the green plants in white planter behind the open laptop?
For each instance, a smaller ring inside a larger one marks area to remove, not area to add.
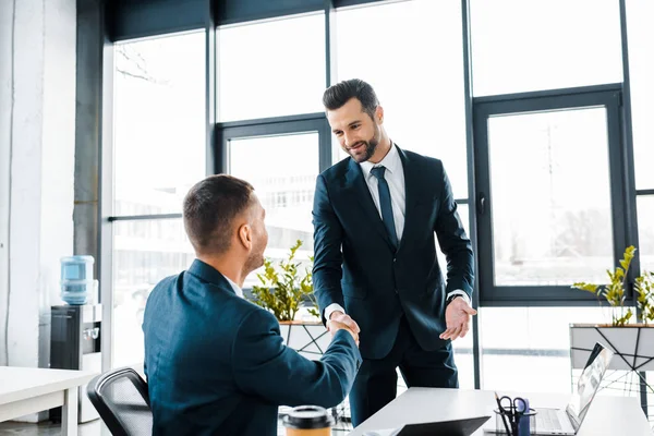
[[[630,323],[633,317],[631,307],[625,307],[626,280],[634,246],[628,246],[620,266],[608,274],[608,284],[577,282],[572,288],[592,292],[601,305],[606,301],[611,313],[610,324],[571,324],[570,355],[573,368],[583,368],[595,342],[602,342],[616,352],[611,360],[611,370],[652,371],[654,368],[654,274],[643,272],[634,281],[638,293],[638,307],[642,323]],[[640,375],[639,375],[640,376]],[[650,388],[651,389],[651,388]]]

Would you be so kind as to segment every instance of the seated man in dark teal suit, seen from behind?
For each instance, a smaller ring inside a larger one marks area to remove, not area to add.
[[[281,404],[340,403],[361,364],[358,336],[329,323],[320,361],[282,343],[279,323],[243,299],[264,263],[265,210],[252,185],[209,177],[184,198],[197,258],[157,284],[143,322],[154,435],[275,436]]]

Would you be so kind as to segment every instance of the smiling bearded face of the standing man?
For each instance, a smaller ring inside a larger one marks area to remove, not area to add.
[[[380,108],[377,108],[377,118]],[[331,131],[348,155],[358,162],[365,162],[374,154],[380,138],[379,124],[363,111],[361,101],[351,98],[336,110],[327,111]]]

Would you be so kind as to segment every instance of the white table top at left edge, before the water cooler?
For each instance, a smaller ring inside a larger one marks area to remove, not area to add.
[[[0,366],[0,404],[82,386],[96,375],[88,371]]]

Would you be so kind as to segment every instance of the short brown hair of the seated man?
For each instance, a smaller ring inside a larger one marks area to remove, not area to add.
[[[233,220],[252,201],[254,187],[233,175],[209,175],[184,197],[184,229],[197,253],[222,254],[231,243]]]

